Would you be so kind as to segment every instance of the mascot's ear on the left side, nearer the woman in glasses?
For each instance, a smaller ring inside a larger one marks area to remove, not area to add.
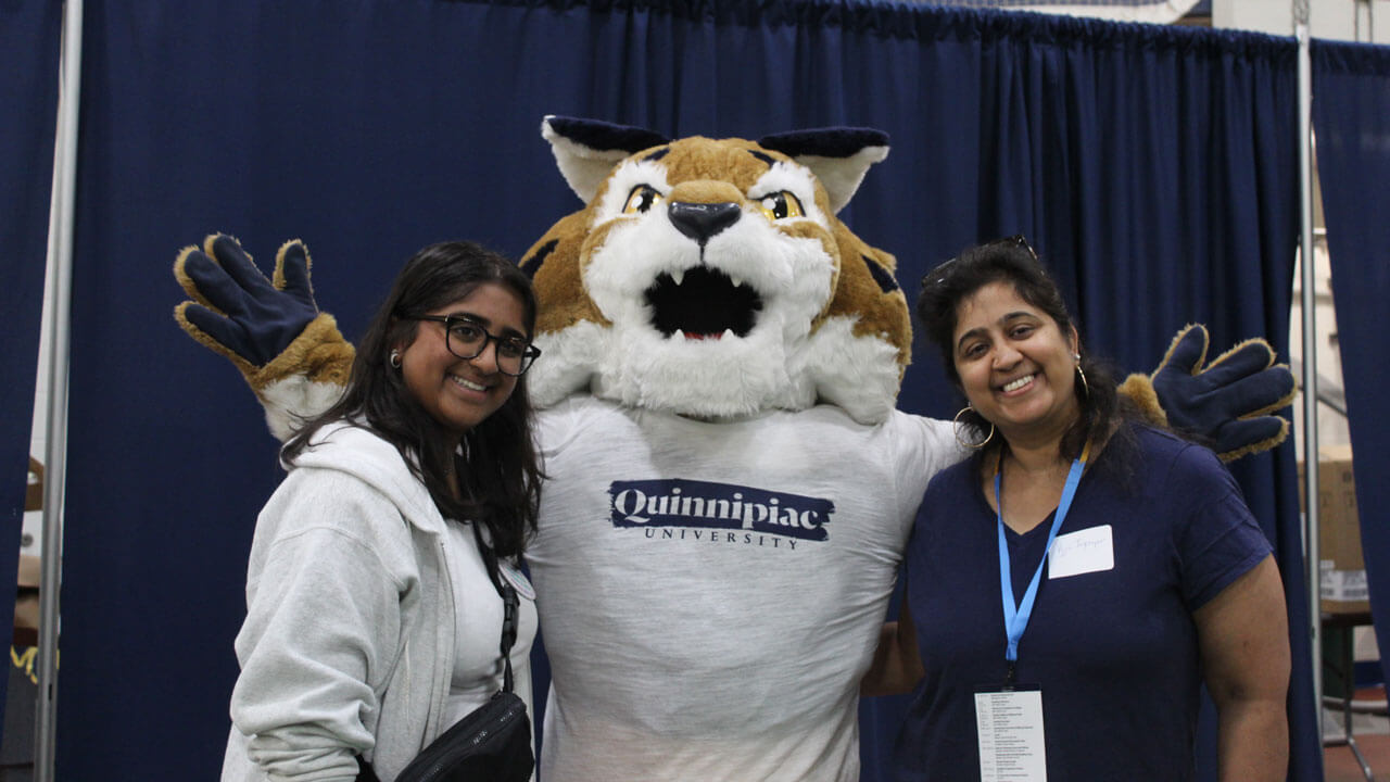
[[[560,174],[584,203],[599,192],[614,163],[670,141],[645,128],[553,114],[541,122],[541,136],[550,142]]]

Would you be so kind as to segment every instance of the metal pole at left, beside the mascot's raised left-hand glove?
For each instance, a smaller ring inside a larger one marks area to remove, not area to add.
[[[76,195],[78,103],[82,83],[82,0],[63,8],[58,121],[49,207],[49,406],[43,491],[43,577],[39,587],[39,697],[35,715],[36,782],[51,782],[58,700],[58,590],[63,575],[63,495],[68,442],[68,324],[72,305],[72,227]]]

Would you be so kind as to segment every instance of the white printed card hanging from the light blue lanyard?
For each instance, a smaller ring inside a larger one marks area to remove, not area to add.
[[[974,694],[980,736],[980,782],[1047,782],[1042,693]]]

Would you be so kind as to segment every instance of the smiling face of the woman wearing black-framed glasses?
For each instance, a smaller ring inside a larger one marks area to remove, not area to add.
[[[484,282],[461,299],[425,314],[467,317],[489,334],[530,338],[521,298],[498,282]],[[414,338],[396,349],[407,391],[450,438],[461,438],[482,423],[517,385],[516,377],[498,370],[493,340],[488,340],[477,356],[460,359],[449,352],[442,323],[421,320]]]

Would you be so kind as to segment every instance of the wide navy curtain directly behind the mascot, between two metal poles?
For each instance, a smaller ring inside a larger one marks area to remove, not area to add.
[[[898,255],[909,296],[960,248],[1022,231],[1122,366],[1152,367],[1188,320],[1286,349],[1290,40],[852,1],[86,7],[64,778],[206,779],[221,758],[246,552],[281,473],[236,373],[170,317],[174,255],[207,231],[264,263],[306,239],[318,299],[354,338],[416,248],[520,255],[580,206],[543,114],[745,138],[869,125],[894,150],[844,217]],[[935,356],[901,404],[955,412]],[[1304,628],[1291,449],[1237,476]],[[1293,640],[1293,778],[1319,779]],[[863,708],[867,781],[901,708]]]

